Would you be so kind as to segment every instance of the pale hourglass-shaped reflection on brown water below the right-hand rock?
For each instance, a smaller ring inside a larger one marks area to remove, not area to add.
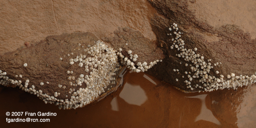
[[[198,98],[198,99],[201,99],[201,101],[202,101],[201,112],[195,118],[195,122],[197,122],[199,120],[205,120],[205,121],[213,122],[213,123],[215,123],[217,125],[221,125],[221,122],[219,122],[218,119],[215,118],[215,116],[212,114],[212,111],[210,111],[206,107],[206,104],[205,104],[206,96],[207,96],[207,94],[187,97],[187,98]]]

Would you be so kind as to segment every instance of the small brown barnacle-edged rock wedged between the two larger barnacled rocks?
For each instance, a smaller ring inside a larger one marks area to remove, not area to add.
[[[120,62],[134,72],[144,72],[164,58],[163,51],[155,41],[145,38],[140,31],[131,28],[120,28],[114,36],[104,38],[117,50]]]

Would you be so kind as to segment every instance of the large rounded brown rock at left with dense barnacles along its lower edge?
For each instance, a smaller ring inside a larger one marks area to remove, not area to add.
[[[117,60],[116,51],[90,32],[49,36],[0,56],[0,84],[75,109],[115,90],[122,70]]]

